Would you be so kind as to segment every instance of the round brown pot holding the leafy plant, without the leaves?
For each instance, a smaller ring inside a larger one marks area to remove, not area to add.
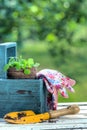
[[[36,68],[31,68],[30,69],[30,74],[24,74],[24,71],[21,70],[16,70],[14,67],[9,68],[7,71],[7,77],[9,79],[35,79],[36,78]]]

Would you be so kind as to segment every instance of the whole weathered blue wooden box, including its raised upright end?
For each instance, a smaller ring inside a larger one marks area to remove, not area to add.
[[[43,113],[47,108],[47,92],[42,79],[7,79],[4,65],[16,56],[16,43],[0,44],[0,117],[12,111],[33,110]]]

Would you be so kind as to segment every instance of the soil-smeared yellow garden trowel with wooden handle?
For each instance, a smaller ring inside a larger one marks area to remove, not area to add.
[[[43,114],[35,114],[33,111],[10,112],[4,116],[5,121],[14,124],[38,123],[59,116],[76,114],[79,112],[78,105],[71,105],[60,110],[53,110]]]

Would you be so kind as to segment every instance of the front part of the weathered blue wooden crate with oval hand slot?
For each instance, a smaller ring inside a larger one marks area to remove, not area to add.
[[[12,111],[47,111],[45,91],[42,80],[0,79],[0,117]]]

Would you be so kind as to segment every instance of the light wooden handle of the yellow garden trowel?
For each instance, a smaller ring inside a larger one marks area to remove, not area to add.
[[[76,114],[80,111],[80,108],[78,105],[71,105],[68,106],[67,108],[63,108],[60,110],[56,110],[56,111],[50,111],[50,118],[57,118],[59,116],[64,116],[64,115],[69,115],[69,114]]]

